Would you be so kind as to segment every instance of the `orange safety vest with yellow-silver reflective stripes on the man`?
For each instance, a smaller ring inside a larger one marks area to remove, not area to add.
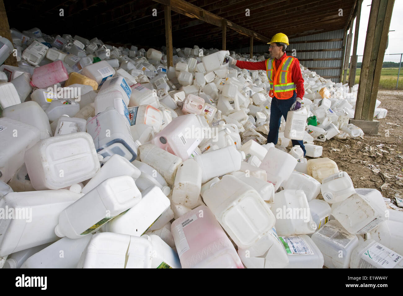
[[[291,77],[291,70],[293,68],[294,57],[286,56],[276,68],[276,61],[274,58],[266,60],[266,74],[270,83],[270,97],[277,99],[289,99],[294,95],[295,83]]]

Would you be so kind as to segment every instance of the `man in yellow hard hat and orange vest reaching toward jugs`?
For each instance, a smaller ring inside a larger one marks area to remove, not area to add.
[[[288,111],[301,108],[305,90],[298,59],[287,56],[285,53],[285,48],[289,45],[287,35],[278,33],[267,44],[270,44],[271,58],[262,62],[244,62],[230,56],[226,57],[230,64],[236,65],[238,68],[266,71],[270,83],[269,95],[272,97],[267,143],[277,144],[281,116],[283,115],[287,120]],[[292,143],[293,146],[299,145],[302,148],[305,157],[303,141],[292,140]]]

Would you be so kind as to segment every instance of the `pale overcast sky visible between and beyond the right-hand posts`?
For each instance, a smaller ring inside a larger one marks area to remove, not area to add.
[[[370,17],[371,10],[371,0],[364,0],[361,6],[361,19],[359,24],[358,33],[358,45],[357,45],[357,55],[362,55],[364,53],[365,37],[367,34],[368,19]],[[389,32],[389,44],[385,52],[384,60],[397,59],[400,56],[386,56],[386,54],[400,54],[403,52],[403,0],[395,0],[395,5],[393,6],[393,13],[391,19],[391,25],[389,30],[395,30],[394,32]],[[353,33],[355,30],[355,21],[353,26]],[[353,53],[353,46],[351,46],[351,53]],[[358,57],[358,61],[361,61],[362,57]],[[397,60],[396,62],[399,62]]]

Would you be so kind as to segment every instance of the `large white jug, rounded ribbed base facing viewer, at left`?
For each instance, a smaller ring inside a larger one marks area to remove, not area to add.
[[[100,169],[94,143],[86,132],[44,139],[25,152],[24,161],[36,190],[77,184]]]

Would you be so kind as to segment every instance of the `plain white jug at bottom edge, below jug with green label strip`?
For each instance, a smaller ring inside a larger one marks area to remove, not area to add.
[[[21,268],[76,268],[81,254],[91,240],[92,234],[82,238],[60,238],[50,246],[29,257]],[[61,257],[60,250],[63,251]]]

